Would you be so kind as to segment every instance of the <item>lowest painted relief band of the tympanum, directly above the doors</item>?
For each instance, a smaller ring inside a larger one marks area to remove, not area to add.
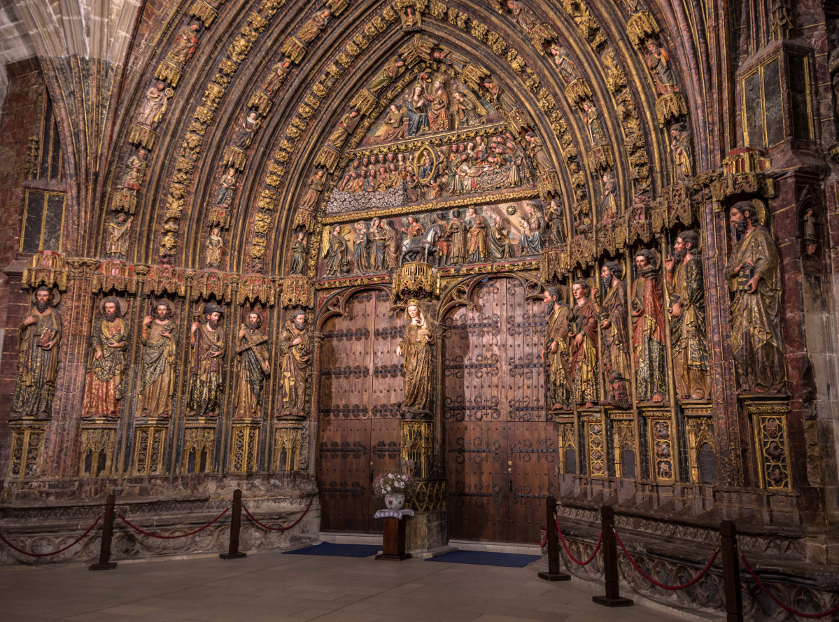
[[[538,199],[373,217],[324,227],[318,275],[387,272],[409,261],[444,267],[536,257],[550,234]]]

